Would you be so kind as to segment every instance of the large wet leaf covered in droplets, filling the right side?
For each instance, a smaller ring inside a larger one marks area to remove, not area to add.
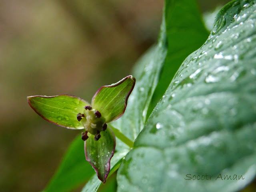
[[[254,3],[224,6],[208,40],[182,63],[120,165],[119,192],[235,192],[255,178]]]

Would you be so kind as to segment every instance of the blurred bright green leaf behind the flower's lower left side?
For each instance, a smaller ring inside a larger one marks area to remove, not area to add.
[[[94,174],[94,169],[85,159],[84,141],[79,135],[70,145],[44,192],[68,192],[85,183]]]

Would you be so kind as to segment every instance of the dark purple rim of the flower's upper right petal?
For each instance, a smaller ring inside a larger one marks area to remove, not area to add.
[[[116,117],[116,118],[113,119],[112,121],[108,121],[108,122],[106,122],[106,123],[111,123],[111,122],[113,122],[113,121],[116,121],[117,119],[119,119],[120,117],[122,117],[122,115],[124,115],[124,112],[125,112],[126,106],[127,106],[127,101],[128,101],[128,98],[129,98],[130,94],[132,93],[132,90],[133,90],[134,86],[135,86],[136,79],[135,79],[132,75],[128,75],[127,77],[124,77],[123,79],[121,79],[121,80],[118,81],[117,83],[114,83],[114,84],[112,84],[112,85],[105,85],[105,86],[100,87],[100,89],[98,89],[98,91],[96,91],[96,93],[95,93],[95,94],[93,95],[93,97],[92,97],[91,103],[93,103],[94,98],[95,98],[96,95],[100,92],[100,90],[103,89],[103,87],[116,87],[116,86],[120,85],[122,82],[124,82],[124,81],[125,81],[126,79],[128,79],[128,78],[132,79],[132,80],[134,81],[134,83],[133,83],[132,88],[130,89],[129,93],[128,93],[127,96],[126,96],[125,103],[124,103],[124,111],[123,111],[118,117]]]

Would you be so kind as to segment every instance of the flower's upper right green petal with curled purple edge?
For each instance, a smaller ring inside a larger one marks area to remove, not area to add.
[[[92,98],[92,107],[100,111],[107,123],[115,121],[124,114],[134,85],[135,78],[129,75],[117,83],[101,87]]]

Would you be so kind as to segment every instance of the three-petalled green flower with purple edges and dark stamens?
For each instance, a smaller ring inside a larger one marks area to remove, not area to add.
[[[68,129],[84,129],[86,160],[105,183],[110,172],[116,137],[107,123],[120,118],[135,85],[129,75],[112,85],[101,87],[92,97],[91,104],[72,95],[30,96],[28,103],[46,121]]]

